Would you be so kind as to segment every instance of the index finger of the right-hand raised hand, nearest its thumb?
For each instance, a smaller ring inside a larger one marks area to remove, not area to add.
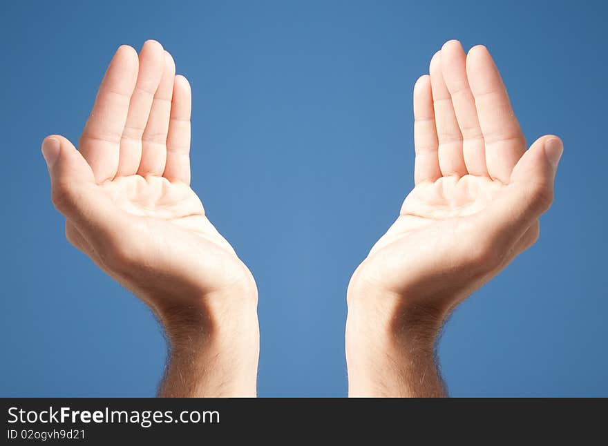
[[[526,140],[486,47],[475,46],[468,52],[466,74],[484,135],[488,173],[492,178],[507,182],[526,149]]]

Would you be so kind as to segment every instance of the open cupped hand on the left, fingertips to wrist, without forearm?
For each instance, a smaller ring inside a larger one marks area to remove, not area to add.
[[[139,57],[121,46],[79,151],[57,135],[43,148],[68,240],[155,309],[229,287],[256,293],[189,186],[190,111],[188,81],[160,43]]]

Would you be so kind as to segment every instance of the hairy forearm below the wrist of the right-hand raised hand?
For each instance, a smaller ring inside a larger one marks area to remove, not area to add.
[[[440,317],[408,309],[395,296],[349,295],[349,396],[445,396],[435,355],[440,329]]]

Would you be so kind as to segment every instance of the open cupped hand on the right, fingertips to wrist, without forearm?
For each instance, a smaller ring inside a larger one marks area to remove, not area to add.
[[[562,146],[526,142],[486,48],[448,41],[414,88],[415,188],[354,273],[444,311],[537,240]]]

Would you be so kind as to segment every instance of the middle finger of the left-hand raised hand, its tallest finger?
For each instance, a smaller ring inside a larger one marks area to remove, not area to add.
[[[164,50],[154,40],[148,40],[140,52],[140,70],[129,103],[116,175],[135,175],[142,159],[142,135],[148,122],[154,95],[164,70]]]

